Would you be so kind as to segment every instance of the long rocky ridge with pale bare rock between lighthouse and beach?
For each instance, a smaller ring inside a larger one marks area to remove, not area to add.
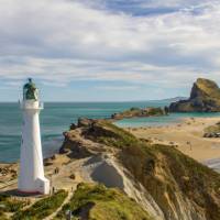
[[[65,133],[61,153],[110,155],[120,164],[118,173],[134,183],[130,184],[134,196],[125,188],[124,193],[144,201],[140,206],[156,219],[220,219],[220,175],[175,147],[139,140],[105,120],[86,120]],[[111,177],[110,173],[101,175]]]

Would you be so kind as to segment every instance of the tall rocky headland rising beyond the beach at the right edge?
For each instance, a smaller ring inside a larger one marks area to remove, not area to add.
[[[220,88],[215,81],[199,78],[191,88],[190,98],[173,102],[172,112],[219,112]]]

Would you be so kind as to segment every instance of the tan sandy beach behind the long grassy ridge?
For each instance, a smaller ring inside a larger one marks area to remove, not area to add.
[[[176,145],[184,154],[199,162],[208,161],[212,164],[212,160],[215,163],[219,163],[220,160],[220,139],[205,139],[202,135],[205,128],[219,121],[219,118],[187,118],[178,124],[127,128],[127,130],[138,138],[154,143]]]

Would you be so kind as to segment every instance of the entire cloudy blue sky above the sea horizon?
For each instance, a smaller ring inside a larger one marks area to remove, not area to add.
[[[33,3],[34,2],[34,3]],[[0,101],[152,100],[220,84],[219,0],[1,0]]]

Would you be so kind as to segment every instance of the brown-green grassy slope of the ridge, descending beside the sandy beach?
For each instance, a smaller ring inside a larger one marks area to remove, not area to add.
[[[119,161],[151,193],[167,219],[183,207],[190,208],[191,216],[220,219],[220,175],[212,169],[172,146],[151,145],[106,121],[97,121],[85,134],[121,150]]]

